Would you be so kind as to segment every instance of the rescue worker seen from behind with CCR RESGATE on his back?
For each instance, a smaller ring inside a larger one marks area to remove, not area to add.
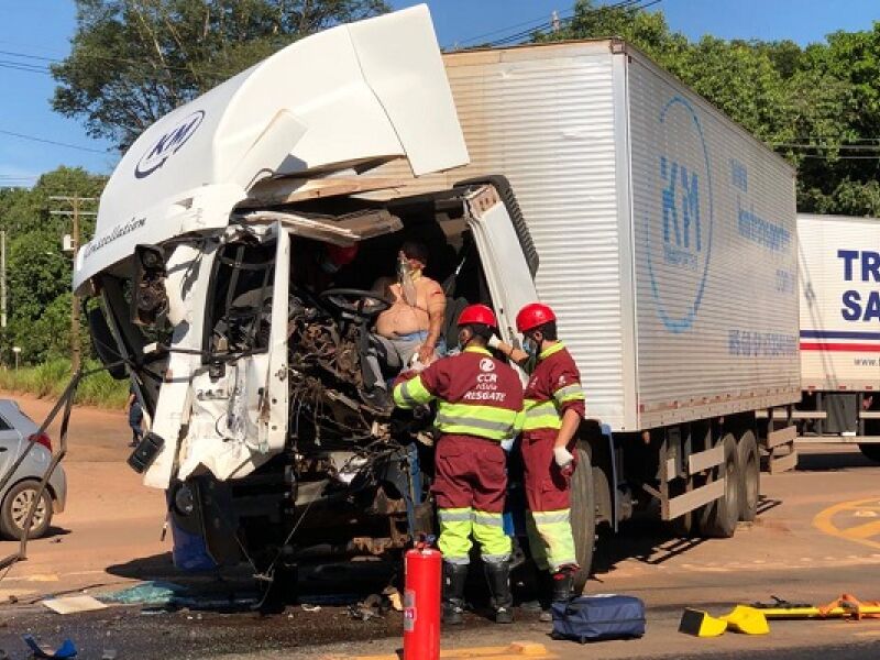
[[[443,623],[462,623],[464,583],[472,547],[480,544],[495,622],[509,624],[510,537],[502,515],[507,493],[502,442],[522,426],[522,385],[517,373],[486,349],[497,328],[493,311],[471,305],[458,321],[460,354],[439,360],[394,388],[394,403],[413,408],[437,400],[441,436],[433,494],[443,553]]]

